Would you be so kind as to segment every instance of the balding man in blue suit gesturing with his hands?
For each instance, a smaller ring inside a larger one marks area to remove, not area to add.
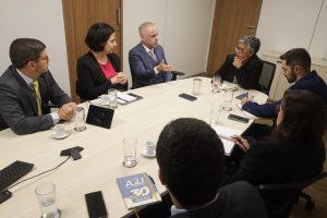
[[[158,45],[155,24],[145,22],[138,27],[142,41],[129,52],[133,78],[132,88],[171,81],[172,65],[168,65],[164,48]]]

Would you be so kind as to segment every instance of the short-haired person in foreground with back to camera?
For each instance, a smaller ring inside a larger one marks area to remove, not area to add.
[[[183,118],[167,124],[156,154],[159,179],[173,203],[171,217],[267,217],[259,193],[251,184],[237,182],[220,187],[223,146],[204,121]]]

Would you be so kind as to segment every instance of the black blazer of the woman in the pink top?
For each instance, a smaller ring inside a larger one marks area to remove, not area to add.
[[[116,53],[109,53],[108,59],[116,72],[120,72],[120,60]],[[128,83],[113,85],[108,81],[99,63],[90,51],[77,60],[76,93],[84,100],[98,98],[108,94],[109,88],[126,90]]]

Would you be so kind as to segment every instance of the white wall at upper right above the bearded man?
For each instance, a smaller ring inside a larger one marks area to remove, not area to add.
[[[294,47],[308,49],[313,57],[327,51],[327,2],[324,0],[263,0],[256,36],[262,40],[259,55],[284,52]],[[316,21],[318,25],[315,28]],[[312,40],[313,39],[313,40]]]

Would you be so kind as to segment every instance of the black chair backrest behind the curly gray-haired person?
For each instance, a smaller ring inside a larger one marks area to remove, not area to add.
[[[269,95],[271,83],[275,75],[276,64],[269,61],[263,61],[263,71],[259,78],[261,92]]]

